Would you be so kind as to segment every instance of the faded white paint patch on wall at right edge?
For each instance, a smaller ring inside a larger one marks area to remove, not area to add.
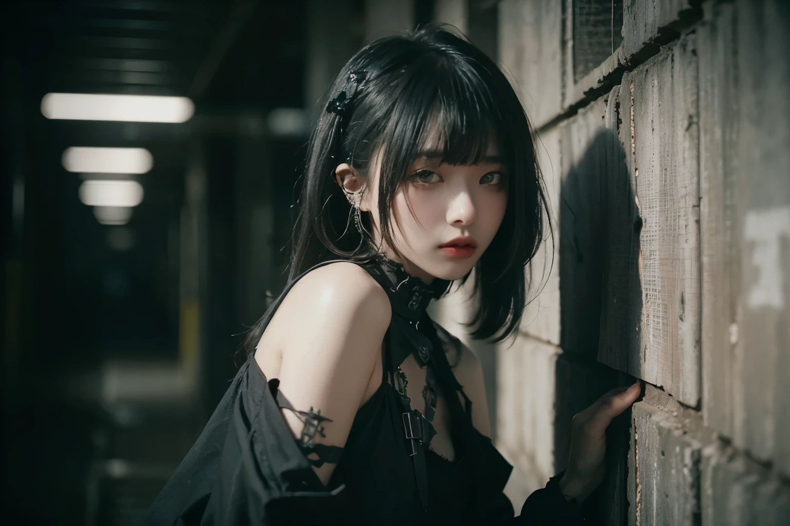
[[[747,307],[784,308],[784,272],[781,262],[781,239],[790,238],[790,207],[748,211],[743,237],[754,242],[751,263],[758,269],[757,281],[751,285]]]

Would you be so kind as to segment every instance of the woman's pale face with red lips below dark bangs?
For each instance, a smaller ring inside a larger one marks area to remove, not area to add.
[[[429,141],[430,144],[431,141]],[[507,206],[506,170],[491,145],[480,164],[441,164],[441,152],[428,149],[408,171],[390,211],[395,249],[383,246],[393,259],[405,259],[406,270],[431,282],[462,278],[494,239]],[[363,194],[362,210],[371,212],[376,241],[378,225],[378,162]]]

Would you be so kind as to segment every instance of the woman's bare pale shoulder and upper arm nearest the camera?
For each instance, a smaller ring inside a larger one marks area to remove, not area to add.
[[[378,360],[392,313],[389,298],[354,263],[313,270],[285,297],[271,323],[281,348],[280,392],[298,411],[319,413],[313,442],[343,447]],[[265,349],[261,349],[265,353]],[[258,356],[256,356],[258,357]],[[295,438],[305,425],[281,410]],[[308,458],[314,458],[312,453]],[[336,464],[314,467],[329,483]]]

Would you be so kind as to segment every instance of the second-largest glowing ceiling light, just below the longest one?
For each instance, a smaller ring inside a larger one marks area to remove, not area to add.
[[[145,148],[66,148],[63,168],[86,173],[146,173],[153,166],[153,156]]]

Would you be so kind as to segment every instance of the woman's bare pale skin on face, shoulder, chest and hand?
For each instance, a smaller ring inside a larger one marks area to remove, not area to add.
[[[493,240],[507,206],[507,173],[495,146],[480,164],[453,166],[440,163],[430,142],[426,155],[412,165],[394,196],[390,213],[395,250],[382,243],[378,228],[378,162],[371,163],[367,177],[345,163],[335,170],[338,185],[348,192],[362,189],[359,208],[370,214],[371,234],[382,252],[426,283],[467,274]],[[439,248],[455,237],[476,241],[472,256],[450,257]],[[310,272],[280,304],[258,344],[265,352],[257,351],[255,360],[267,379],[280,379],[280,390],[295,408],[320,409],[332,419],[325,423],[325,437],[315,435],[315,442],[343,447],[356,412],[381,386],[382,341],[391,316],[386,292],[355,263],[332,263]],[[409,392],[421,393],[425,370],[414,356],[401,369]],[[465,346],[453,373],[472,401],[472,425],[490,437],[483,370]],[[581,502],[600,484],[606,428],[636,401],[639,391],[638,384],[629,390],[612,390],[574,416],[570,459],[560,482],[564,494]],[[415,408],[423,410],[420,406]],[[299,437],[302,421],[288,410],[283,410],[283,416]],[[431,449],[453,460],[449,418],[440,395]],[[314,469],[327,484],[334,468],[335,464],[324,464]]]

